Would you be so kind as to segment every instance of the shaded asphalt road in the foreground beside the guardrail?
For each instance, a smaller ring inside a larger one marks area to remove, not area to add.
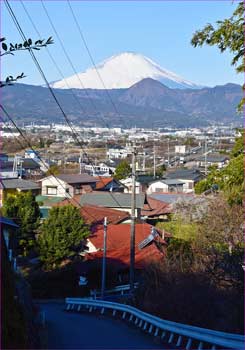
[[[64,304],[39,306],[45,311],[48,349],[163,349],[152,336],[120,319],[66,312]]]

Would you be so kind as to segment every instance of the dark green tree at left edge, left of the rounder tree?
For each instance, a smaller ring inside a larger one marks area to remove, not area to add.
[[[8,195],[3,204],[3,215],[14,219],[20,225],[20,246],[23,254],[34,244],[35,230],[40,222],[40,210],[31,192]]]

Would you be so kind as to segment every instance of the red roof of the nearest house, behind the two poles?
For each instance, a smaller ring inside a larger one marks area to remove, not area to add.
[[[143,268],[146,263],[150,261],[158,261],[164,257],[164,253],[161,252],[154,242],[151,242],[143,249],[139,249],[138,245],[143,241],[151,232],[151,225],[149,224],[136,224],[135,225],[135,267]],[[89,240],[97,249],[103,248],[103,229],[98,229],[90,237]],[[161,237],[156,237],[155,241],[165,243]],[[87,254],[87,259],[99,259],[103,255],[102,251],[96,253]],[[130,264],[130,225],[109,225],[107,227],[107,258],[111,261],[115,261],[118,268],[129,267]]]

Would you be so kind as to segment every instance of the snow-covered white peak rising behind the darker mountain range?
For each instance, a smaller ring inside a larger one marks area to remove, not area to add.
[[[98,73],[103,80],[102,83]],[[177,74],[161,68],[150,58],[133,52],[124,52],[112,56],[94,68],[89,68],[85,72],[78,73],[80,81],[76,75],[51,84],[54,88],[67,89],[121,89],[129,88],[133,84],[145,78],[152,78],[160,81],[169,88],[193,88],[200,86],[185,80]]]

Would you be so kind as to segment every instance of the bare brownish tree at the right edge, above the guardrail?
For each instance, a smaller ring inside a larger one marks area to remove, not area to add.
[[[220,286],[243,286],[243,207],[218,196],[209,202],[193,241],[196,264]]]

